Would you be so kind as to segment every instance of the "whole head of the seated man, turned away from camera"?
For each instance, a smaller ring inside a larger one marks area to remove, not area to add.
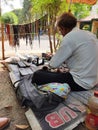
[[[63,13],[57,20],[57,26],[61,34],[65,36],[77,24],[77,19],[71,13]]]

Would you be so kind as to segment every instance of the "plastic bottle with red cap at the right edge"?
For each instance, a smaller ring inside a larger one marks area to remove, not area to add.
[[[85,118],[86,127],[89,130],[98,130],[98,91],[88,100],[90,113]]]

